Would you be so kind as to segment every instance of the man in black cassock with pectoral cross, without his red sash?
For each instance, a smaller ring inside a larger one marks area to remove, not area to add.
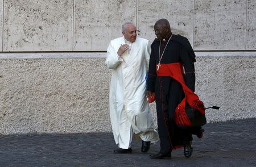
[[[160,19],[154,26],[157,39],[151,45],[150,64],[147,78],[147,97],[155,94],[160,151],[150,155],[153,159],[171,158],[172,149],[184,148],[184,156],[192,155],[192,133],[203,136],[201,127],[183,129],[175,124],[175,108],[184,98],[179,82],[169,76],[158,76],[161,64],[180,62],[184,67],[185,85],[195,91],[195,53],[187,38],[174,35],[170,23]]]

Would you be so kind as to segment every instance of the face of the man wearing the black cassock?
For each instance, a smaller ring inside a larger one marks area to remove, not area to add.
[[[170,28],[161,22],[156,22],[154,26],[155,35],[159,40],[167,39],[171,35]]]

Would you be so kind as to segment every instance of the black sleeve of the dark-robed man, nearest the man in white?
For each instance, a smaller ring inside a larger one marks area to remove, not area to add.
[[[155,69],[155,55],[152,52],[151,45],[151,53],[150,53],[150,62],[148,66],[148,75],[147,75],[147,90],[151,92],[155,92],[155,80],[156,80],[156,69]]]

